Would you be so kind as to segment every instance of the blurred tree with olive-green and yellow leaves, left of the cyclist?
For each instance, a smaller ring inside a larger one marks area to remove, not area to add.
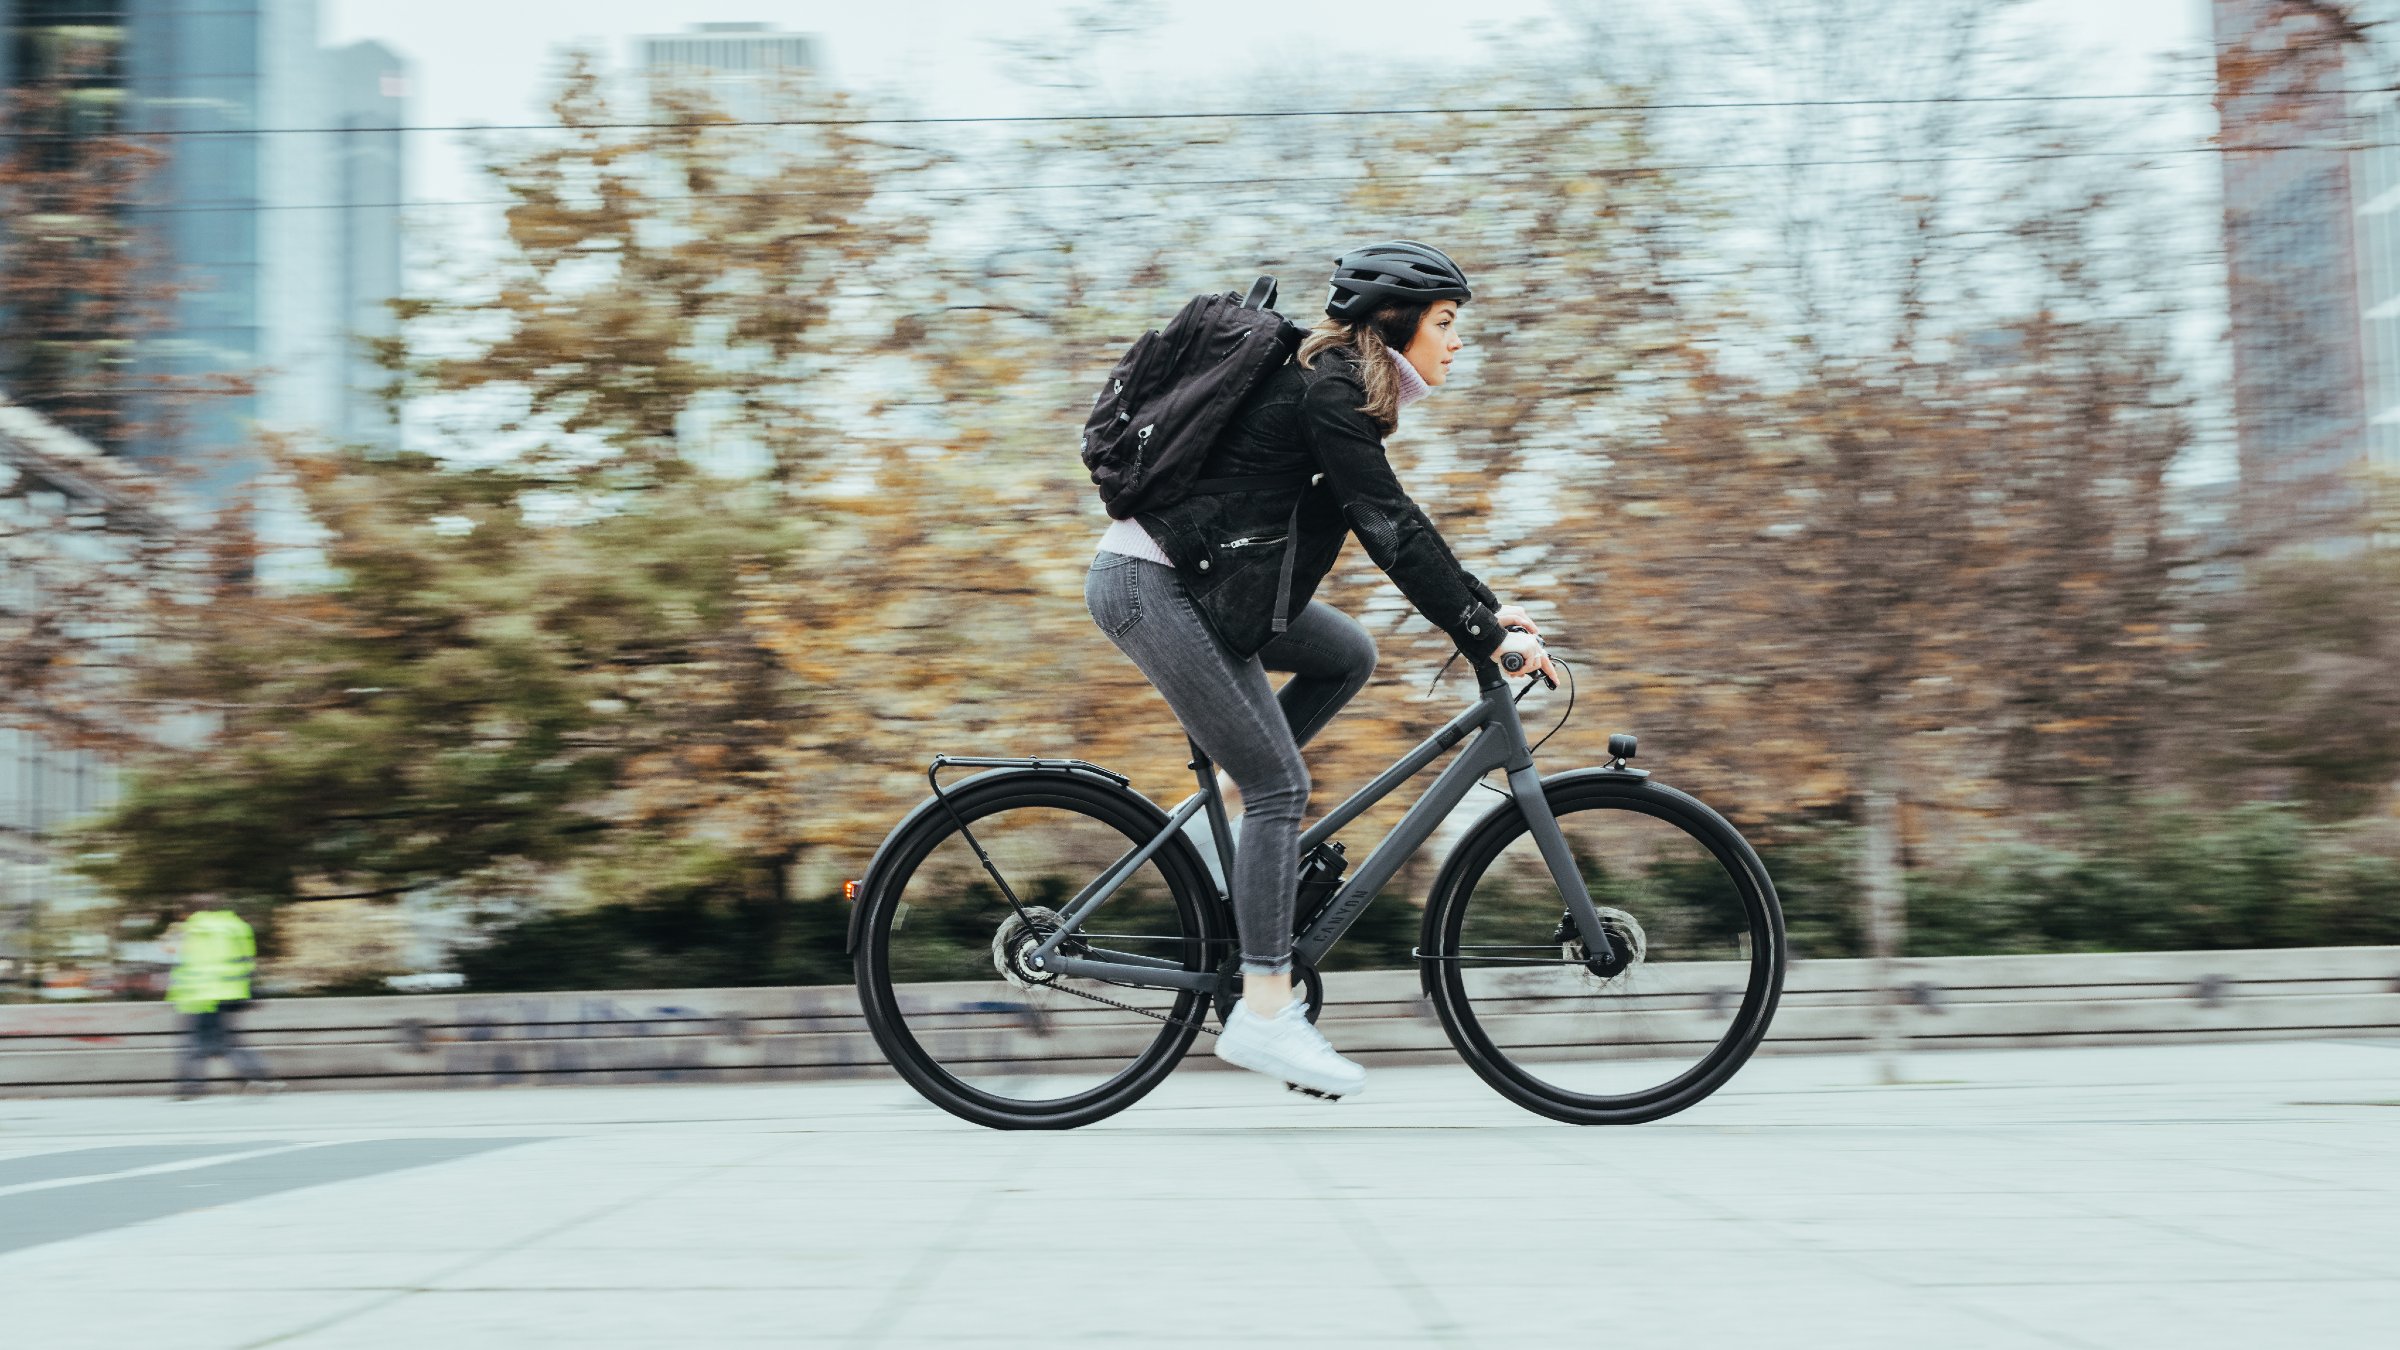
[[[317,579],[223,567],[163,615],[151,697],[218,730],[94,831],[118,894],[706,889],[782,913],[787,742],[816,713],[778,649],[806,641],[792,596],[828,586],[794,569],[792,485],[833,440],[809,382],[840,288],[917,238],[869,207],[910,156],[744,135],[670,86],[648,113],[569,67],[559,135],[490,163],[511,207],[480,293],[401,305],[384,360],[422,437],[283,449]]]

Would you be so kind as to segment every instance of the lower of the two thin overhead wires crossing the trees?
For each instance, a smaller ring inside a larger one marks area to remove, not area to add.
[[[1754,161],[1687,161],[1687,163],[1615,163],[1596,168],[1457,168],[1435,173],[1378,173],[1358,183],[1445,183],[1445,180],[1548,180],[1548,178],[1634,178],[1646,173],[1716,173],[1716,171],[1766,171],[1766,168],[1874,168],[1874,166],[1937,166],[1937,163],[2035,163],[2054,159],[2179,159],[2194,154],[2270,154],[2270,151],[2364,151],[2400,149],[2393,142],[2371,144],[2263,144],[2263,147],[2158,147],[2158,149],[2057,149],[2057,151],[2004,151],[2004,154],[1930,154],[1930,156],[1867,156],[1867,159],[1754,159]],[[960,183],[922,187],[874,187],[864,197],[996,197],[1013,192],[1099,192],[1099,190],[1157,190],[1157,187],[1349,187],[1327,183],[1322,173],[1296,175],[1248,175],[1248,178],[1133,178],[1116,183]],[[653,195],[648,202],[749,202],[749,199],[826,199],[862,197],[859,192],[835,192],[826,187],[787,187],[775,192],[672,192]],[[449,202],[226,202],[204,207],[125,207],[125,214],[175,216],[197,211],[408,211],[420,207],[518,207],[521,197],[461,197]]]

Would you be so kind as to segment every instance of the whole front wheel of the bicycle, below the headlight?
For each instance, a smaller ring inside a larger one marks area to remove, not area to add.
[[[1483,817],[1426,908],[1426,985],[1500,1095],[1572,1124],[1680,1112],[1730,1079],[1783,992],[1783,910],[1757,853],[1699,800],[1632,776],[1548,788],[1584,889],[1630,961],[1584,961],[1514,805]]]

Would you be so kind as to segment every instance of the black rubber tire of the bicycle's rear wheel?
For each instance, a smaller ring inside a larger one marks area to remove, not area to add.
[[[1085,810],[1085,814],[1118,831],[1138,831],[1128,836],[1135,841],[1152,838],[1166,829],[1166,812],[1140,793],[1056,769],[986,773],[953,788],[948,800],[970,824],[1001,810],[1061,807]],[[1116,819],[1109,819],[1104,812],[1114,812]],[[902,836],[886,846],[881,865],[866,877],[866,886],[859,894],[864,913],[859,915],[859,946],[852,956],[852,970],[866,1028],[874,1033],[876,1047],[883,1050],[883,1059],[929,1103],[989,1129],[1075,1129],[1106,1119],[1150,1095],[1190,1050],[1198,1023],[1207,1016],[1207,994],[1178,994],[1169,1014],[1176,1023],[1159,1023],[1159,1038],[1138,1059],[1106,1083],[1039,1103],[1042,1110],[1025,1110],[1032,1103],[1013,1103],[1010,1098],[998,1098],[960,1081],[917,1043],[917,1035],[907,1028],[907,1019],[900,1014],[900,999],[890,980],[890,922],[898,898],[907,891],[907,879],[955,831],[958,826],[948,810],[917,812],[902,826]],[[1224,934],[1217,932],[1214,889],[1190,841],[1174,838],[1152,860],[1159,865],[1188,930],[1198,932],[1202,951],[1212,951],[1212,942]]]

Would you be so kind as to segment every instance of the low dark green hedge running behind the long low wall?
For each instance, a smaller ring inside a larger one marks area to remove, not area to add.
[[[2311,824],[2299,807],[2136,805],[2042,822],[2014,841],[1908,874],[1910,956],[2208,951],[2400,944],[2400,831]],[[1762,848],[1793,956],[1865,956],[1848,824]],[[1675,877],[1654,877],[1675,896]],[[1409,966],[1423,910],[1409,886],[1368,906],[1327,970]],[[538,913],[458,956],[475,992],[845,985],[850,908],[766,903],[691,886],[643,903]],[[338,990],[322,990],[338,992]]]

